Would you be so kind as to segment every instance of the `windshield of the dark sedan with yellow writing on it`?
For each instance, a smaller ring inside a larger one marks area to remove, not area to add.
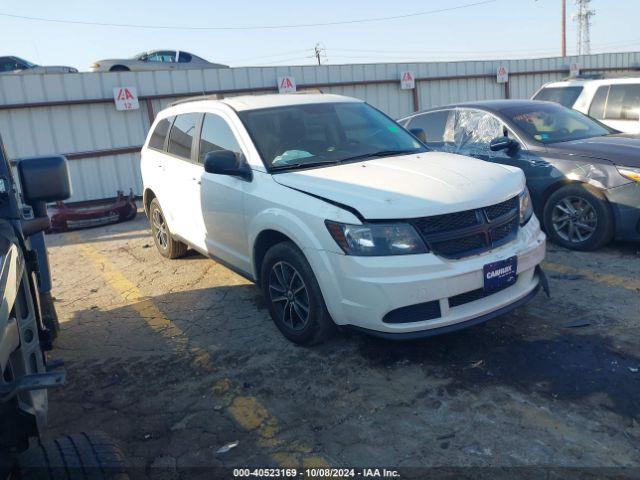
[[[542,143],[601,137],[614,132],[580,112],[550,103],[508,108],[502,113],[514,126]]]

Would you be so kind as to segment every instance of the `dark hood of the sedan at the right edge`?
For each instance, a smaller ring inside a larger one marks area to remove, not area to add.
[[[640,167],[640,137],[629,134],[607,135],[547,145],[549,153],[575,155],[611,162],[614,165]]]

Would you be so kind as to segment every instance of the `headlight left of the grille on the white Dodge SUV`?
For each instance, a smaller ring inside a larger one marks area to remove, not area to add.
[[[329,233],[347,255],[382,256],[427,253],[427,247],[408,223],[349,225],[325,221]]]

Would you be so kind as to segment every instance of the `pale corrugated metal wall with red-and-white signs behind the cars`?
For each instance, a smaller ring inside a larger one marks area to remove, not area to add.
[[[505,86],[495,78],[500,65],[509,69],[510,97],[528,98],[543,83],[566,77],[574,61],[582,70],[628,70],[640,67],[640,53],[565,59],[2,75],[0,134],[11,158],[72,154],[71,201],[113,197],[117,189],[133,188],[141,194],[139,155],[109,151],[142,145],[153,113],[181,95],[273,91],[277,77],[288,74],[299,89],[319,87],[324,92],[362,98],[397,118],[411,113],[415,105],[425,109],[464,100],[504,98]],[[411,90],[400,89],[399,76],[404,70],[413,71],[419,79],[415,98]],[[113,88],[121,86],[137,88],[139,110],[116,111]]]

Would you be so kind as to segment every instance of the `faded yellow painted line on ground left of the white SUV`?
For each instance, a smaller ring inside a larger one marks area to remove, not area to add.
[[[154,333],[172,345],[186,350],[191,355],[195,367],[211,371],[214,369],[211,355],[206,350],[191,345],[184,331],[168,319],[150,298],[144,296],[106,256],[90,244],[82,243],[78,234],[66,235],[76,244],[82,255],[102,273],[106,282],[122,297],[127,306],[135,310]],[[269,451],[279,465],[285,468],[329,466],[323,458],[309,455],[312,452],[309,446],[298,442],[286,444],[278,438],[278,420],[255,397],[237,395],[237,391],[238,388],[228,378],[219,380],[212,386],[212,393],[223,398],[231,417],[244,430],[255,432],[258,445]]]

